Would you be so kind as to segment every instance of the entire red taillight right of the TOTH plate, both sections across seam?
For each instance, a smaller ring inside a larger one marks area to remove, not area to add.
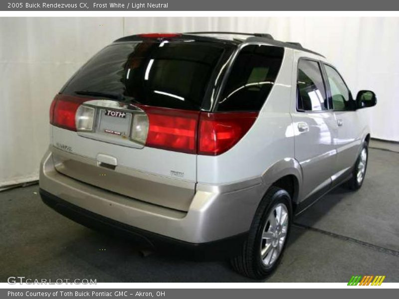
[[[206,113],[140,106],[149,121],[147,147],[203,155],[231,149],[251,128],[256,112]]]

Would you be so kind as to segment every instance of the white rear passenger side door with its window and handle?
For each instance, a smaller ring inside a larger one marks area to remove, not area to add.
[[[302,198],[320,196],[331,186],[336,149],[336,122],[328,109],[320,62],[299,59],[296,76],[297,111],[292,114],[295,158],[303,173]]]

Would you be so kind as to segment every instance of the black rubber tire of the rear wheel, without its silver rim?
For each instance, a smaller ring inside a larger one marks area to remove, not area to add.
[[[262,235],[264,228],[267,225],[269,216],[271,216],[271,211],[273,210],[274,213],[274,208],[279,204],[285,205],[288,212],[288,227],[286,228],[286,237],[282,248],[280,249],[280,254],[275,262],[272,265],[266,266],[262,261],[260,252],[262,246],[261,242],[265,242],[262,240]],[[241,254],[231,259],[231,265],[233,269],[236,272],[252,279],[265,279],[276,269],[283,256],[290,233],[291,222],[292,206],[290,195],[284,189],[271,186],[255,212],[249,235],[243,244]]]

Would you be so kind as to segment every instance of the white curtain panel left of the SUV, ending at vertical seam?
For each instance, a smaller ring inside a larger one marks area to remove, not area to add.
[[[122,32],[122,18],[0,18],[0,187],[38,179],[54,95]]]

